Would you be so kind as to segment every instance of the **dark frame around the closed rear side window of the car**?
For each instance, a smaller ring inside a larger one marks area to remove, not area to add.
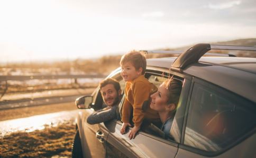
[[[188,101],[187,101],[187,104],[186,104],[186,112],[185,112],[184,126],[182,128],[181,143],[179,145],[179,147],[181,149],[184,149],[184,150],[187,150],[187,151],[190,151],[190,152],[193,152],[193,153],[197,153],[197,154],[200,154],[200,155],[203,155],[203,156],[217,156],[217,155],[220,155],[220,154],[224,153],[225,151],[231,149],[233,146],[241,143],[242,141],[244,141],[245,139],[247,139],[248,137],[250,137],[251,135],[253,135],[256,132],[256,127],[250,129],[249,131],[246,131],[246,133],[244,133],[244,135],[241,135],[241,137],[239,139],[237,139],[237,140],[233,141],[231,144],[225,146],[220,151],[204,151],[204,150],[200,150],[200,149],[197,149],[195,147],[184,144],[185,131],[186,131],[186,126],[187,126],[187,118],[188,118],[188,115],[189,115],[188,114],[189,105],[190,105],[190,101],[191,101],[191,96],[193,95],[192,92],[193,92],[195,83],[197,83],[199,85],[202,85],[202,86],[205,86],[207,88],[211,88],[215,92],[220,92],[221,91],[222,94],[226,94],[228,97],[234,98],[234,96],[235,96],[236,100],[240,100],[240,101],[242,100],[242,101],[250,102],[251,104],[255,104],[252,101],[249,101],[248,99],[246,99],[246,98],[244,98],[240,95],[237,95],[234,92],[228,91],[223,87],[220,87],[220,86],[215,85],[213,83],[207,82],[207,81],[202,80],[200,78],[193,77],[193,80],[191,82],[191,88],[190,88],[189,95],[188,95]]]

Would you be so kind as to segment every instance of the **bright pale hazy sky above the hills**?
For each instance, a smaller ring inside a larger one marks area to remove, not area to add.
[[[255,37],[255,0],[0,0],[0,63]]]

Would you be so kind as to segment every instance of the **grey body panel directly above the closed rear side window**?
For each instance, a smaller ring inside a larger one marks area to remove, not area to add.
[[[239,94],[256,103],[256,74],[220,65],[196,63],[188,66],[184,73],[196,76],[228,91]]]

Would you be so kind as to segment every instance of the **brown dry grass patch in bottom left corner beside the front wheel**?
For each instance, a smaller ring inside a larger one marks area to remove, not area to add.
[[[71,157],[76,130],[72,123],[45,130],[17,132],[0,139],[0,157]]]

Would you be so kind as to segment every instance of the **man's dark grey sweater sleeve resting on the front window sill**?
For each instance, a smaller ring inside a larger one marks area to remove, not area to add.
[[[112,120],[116,117],[116,109],[117,106],[112,106],[112,108],[109,108],[108,110],[98,110],[88,116],[87,123],[97,124]]]

